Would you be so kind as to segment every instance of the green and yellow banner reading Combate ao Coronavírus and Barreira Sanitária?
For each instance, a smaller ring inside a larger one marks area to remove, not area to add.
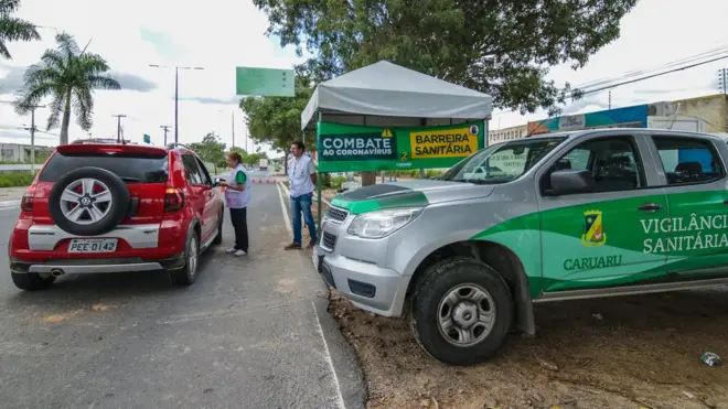
[[[483,149],[483,122],[441,127],[363,127],[319,122],[320,172],[450,168]]]

